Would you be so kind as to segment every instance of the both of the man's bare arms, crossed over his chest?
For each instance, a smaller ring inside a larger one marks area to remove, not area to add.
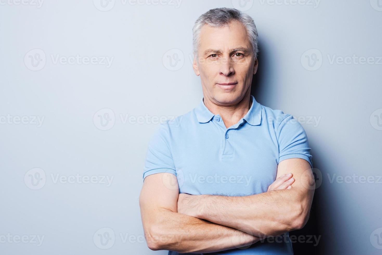
[[[308,162],[286,159],[265,193],[245,197],[179,194],[175,175],[160,173],[145,178],[139,203],[150,249],[208,253],[300,229],[308,220],[313,192]]]

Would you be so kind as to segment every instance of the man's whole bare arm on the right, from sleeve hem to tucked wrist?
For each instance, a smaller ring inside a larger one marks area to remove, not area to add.
[[[179,194],[178,212],[261,238],[301,229],[308,221],[315,188],[311,166],[304,159],[286,159],[277,172],[268,191],[256,195]]]

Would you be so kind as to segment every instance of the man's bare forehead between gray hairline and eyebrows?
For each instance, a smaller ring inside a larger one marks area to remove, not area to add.
[[[199,50],[209,48],[224,50],[239,46],[250,48],[251,45],[244,25],[236,20],[220,28],[205,24],[201,28],[199,40]]]

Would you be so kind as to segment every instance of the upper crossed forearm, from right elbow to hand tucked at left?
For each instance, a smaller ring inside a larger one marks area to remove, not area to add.
[[[273,190],[246,197],[198,196],[197,218],[243,229],[254,236],[277,236],[306,223],[310,197],[301,191]]]

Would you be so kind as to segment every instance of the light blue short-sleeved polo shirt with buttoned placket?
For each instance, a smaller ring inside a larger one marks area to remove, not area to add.
[[[251,98],[247,114],[229,128],[203,99],[190,112],[160,124],[149,141],[143,179],[167,172],[176,175],[179,193],[248,196],[267,191],[284,159],[301,158],[312,166],[301,124],[292,115]],[[246,249],[208,254],[280,255],[293,250],[286,233]]]

